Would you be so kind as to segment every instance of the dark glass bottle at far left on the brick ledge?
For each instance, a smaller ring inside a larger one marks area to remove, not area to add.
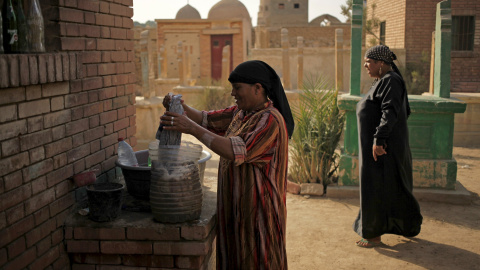
[[[3,7],[3,49],[5,53],[18,52],[17,16],[12,0],[6,0]]]

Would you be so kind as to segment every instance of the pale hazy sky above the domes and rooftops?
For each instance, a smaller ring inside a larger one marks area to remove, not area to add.
[[[185,6],[187,1],[200,12],[202,19],[206,19],[208,11],[220,0],[133,0],[133,20],[145,23],[155,19],[174,19],[177,11]],[[260,0],[240,0],[240,2],[250,13],[253,26],[256,26]],[[344,5],[345,2],[345,0],[309,0],[308,21],[322,14],[330,14],[345,22],[346,18],[340,13],[340,5]]]

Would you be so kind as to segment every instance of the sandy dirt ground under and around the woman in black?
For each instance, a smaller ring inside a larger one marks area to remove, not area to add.
[[[468,191],[480,194],[480,149],[456,147],[454,156],[458,162],[457,180]],[[216,179],[217,165],[218,156],[214,154],[205,170],[208,182]],[[358,199],[288,194],[288,267],[293,270],[480,269],[478,195],[468,205],[419,203],[424,220],[417,237],[385,235],[382,241],[386,246],[365,249],[355,245],[360,237],[352,229],[359,209]]]

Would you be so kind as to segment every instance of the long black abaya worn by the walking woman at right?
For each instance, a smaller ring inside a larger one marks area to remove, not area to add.
[[[420,233],[422,215],[412,195],[410,111],[403,79],[395,72],[378,80],[357,104],[360,211],[353,229],[363,238]],[[373,144],[387,154],[373,159]]]

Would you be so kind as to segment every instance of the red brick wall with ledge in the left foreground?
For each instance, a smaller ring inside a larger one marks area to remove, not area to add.
[[[78,191],[70,177],[98,169],[97,181],[112,180],[117,138],[136,144],[133,1],[41,3],[51,3],[42,7],[51,53],[0,56],[5,270],[70,268],[63,225]]]

